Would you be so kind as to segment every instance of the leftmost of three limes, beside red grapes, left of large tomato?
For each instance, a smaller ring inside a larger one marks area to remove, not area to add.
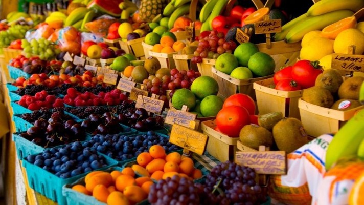
[[[174,92],[172,96],[172,105],[177,110],[181,110],[184,105],[193,110],[196,105],[196,97],[189,89],[181,88]]]

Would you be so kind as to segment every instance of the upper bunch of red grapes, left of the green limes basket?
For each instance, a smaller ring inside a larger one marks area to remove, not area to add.
[[[234,41],[225,41],[225,34],[222,32],[211,31],[209,36],[199,39],[198,47],[193,53],[191,61],[201,63],[202,58],[217,59],[223,53],[233,53],[236,48]]]

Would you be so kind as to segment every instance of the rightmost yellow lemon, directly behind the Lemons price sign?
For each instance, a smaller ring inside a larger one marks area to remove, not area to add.
[[[347,29],[340,32],[335,38],[334,51],[335,53],[348,53],[348,47],[352,45],[355,46],[355,54],[361,55],[364,52],[364,33],[358,29]]]

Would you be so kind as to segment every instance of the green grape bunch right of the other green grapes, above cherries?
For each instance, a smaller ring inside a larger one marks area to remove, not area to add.
[[[36,54],[42,60],[54,59],[61,52],[56,44],[45,38],[39,38],[38,40],[32,39],[30,42],[22,39],[21,48],[29,55],[26,57],[29,58],[30,54]]]

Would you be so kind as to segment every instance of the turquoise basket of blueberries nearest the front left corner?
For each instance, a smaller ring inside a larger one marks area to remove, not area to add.
[[[97,170],[106,170],[117,165],[115,160],[99,152],[98,155],[105,157],[107,166]],[[62,195],[62,187],[87,175],[87,173],[83,173],[74,177],[62,179],[53,173],[43,170],[41,167],[33,165],[28,162],[26,158],[22,159],[22,165],[26,170],[30,188],[60,205],[67,204],[66,198]]]

